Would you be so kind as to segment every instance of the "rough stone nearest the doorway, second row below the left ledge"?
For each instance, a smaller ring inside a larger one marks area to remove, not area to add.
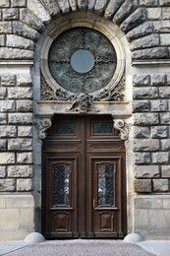
[[[32,98],[32,88],[9,88],[8,90],[9,98]]]

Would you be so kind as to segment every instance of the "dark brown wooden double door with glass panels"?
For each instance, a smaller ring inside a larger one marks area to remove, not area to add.
[[[44,236],[124,237],[125,146],[112,117],[56,115],[42,149]]]

